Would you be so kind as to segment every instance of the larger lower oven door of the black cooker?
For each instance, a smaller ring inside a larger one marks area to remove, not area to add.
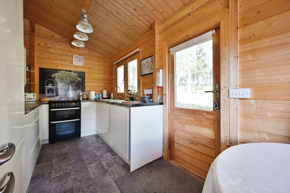
[[[80,137],[80,119],[49,122],[49,143]]]

